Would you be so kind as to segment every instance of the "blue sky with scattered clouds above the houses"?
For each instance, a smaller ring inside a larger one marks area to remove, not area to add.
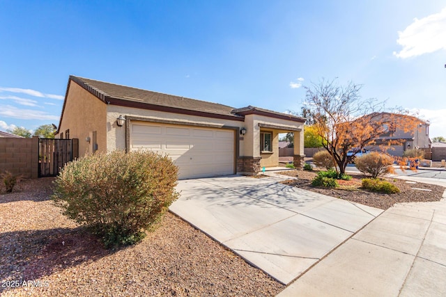
[[[446,137],[446,0],[0,0],[0,40],[3,131],[58,125],[70,74],[282,112],[338,77]]]

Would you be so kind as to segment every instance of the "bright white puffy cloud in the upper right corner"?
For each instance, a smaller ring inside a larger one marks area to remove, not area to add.
[[[414,19],[404,31],[398,32],[397,42],[403,46],[399,53],[393,53],[398,58],[410,58],[446,49],[446,8],[440,13]]]

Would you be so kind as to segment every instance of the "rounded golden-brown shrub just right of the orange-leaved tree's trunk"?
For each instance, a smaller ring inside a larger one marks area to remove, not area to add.
[[[356,168],[364,174],[371,175],[373,178],[392,172],[393,163],[394,159],[392,156],[379,152],[364,154],[355,159]]]

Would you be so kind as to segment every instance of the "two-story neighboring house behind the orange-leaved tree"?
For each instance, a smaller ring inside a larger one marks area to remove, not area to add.
[[[397,113],[376,113],[373,118],[380,119],[385,132],[376,138],[374,145],[365,147],[367,150],[385,150],[392,156],[403,156],[406,150],[431,144],[429,122]]]

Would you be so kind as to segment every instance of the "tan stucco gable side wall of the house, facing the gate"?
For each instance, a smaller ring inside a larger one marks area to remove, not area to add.
[[[97,144],[98,152],[105,152],[107,150],[106,113],[105,102],[91,95],[74,81],[70,81],[59,134],[56,138],[61,138],[61,133],[65,138],[65,131],[70,129],[70,138],[79,138],[79,156],[93,152],[95,144]],[[86,137],[91,138],[90,143],[86,142]]]

